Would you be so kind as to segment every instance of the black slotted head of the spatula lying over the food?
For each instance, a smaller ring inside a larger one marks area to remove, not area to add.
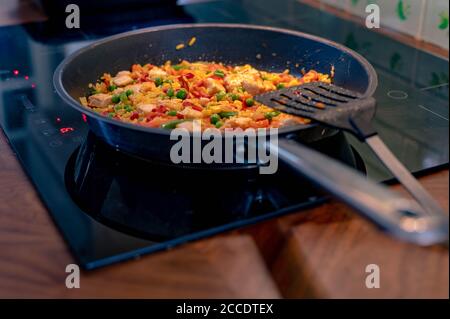
[[[375,99],[333,84],[306,83],[260,94],[255,100],[283,113],[349,131],[361,140],[376,133],[370,124]]]

